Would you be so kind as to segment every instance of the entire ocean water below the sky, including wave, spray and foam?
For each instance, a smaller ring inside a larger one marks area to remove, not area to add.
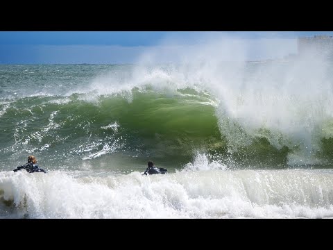
[[[332,69],[0,65],[0,218],[332,218]]]

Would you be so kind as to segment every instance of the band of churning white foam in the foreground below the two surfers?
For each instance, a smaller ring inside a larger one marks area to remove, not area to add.
[[[327,218],[333,172],[0,172],[0,217]]]

